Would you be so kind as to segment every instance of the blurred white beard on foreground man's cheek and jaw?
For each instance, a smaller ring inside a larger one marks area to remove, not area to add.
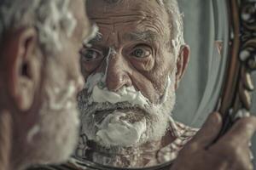
[[[67,80],[66,72],[49,60],[44,86],[44,99],[38,113],[38,122],[27,133],[26,147],[20,148],[21,167],[32,164],[61,163],[73,154],[79,137],[79,111],[76,105],[74,82]],[[58,80],[57,80],[58,81]],[[59,83],[59,84],[58,84]],[[63,83],[63,84],[62,84]],[[62,84],[62,85],[61,85]],[[56,88],[59,87],[59,88]]]

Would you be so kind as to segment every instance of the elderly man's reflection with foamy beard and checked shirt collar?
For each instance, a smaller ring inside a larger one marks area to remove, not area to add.
[[[176,1],[88,1],[100,30],[81,50],[77,156],[118,167],[172,161],[196,129],[172,119],[189,62]],[[87,150],[90,148],[90,150]]]

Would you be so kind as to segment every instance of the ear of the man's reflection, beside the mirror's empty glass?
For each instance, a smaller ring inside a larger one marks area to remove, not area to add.
[[[183,78],[183,75],[188,67],[189,64],[189,54],[190,54],[190,48],[188,45],[183,45],[180,49],[180,53],[177,58],[176,63],[176,82],[175,82],[175,89],[178,88],[179,82]]]

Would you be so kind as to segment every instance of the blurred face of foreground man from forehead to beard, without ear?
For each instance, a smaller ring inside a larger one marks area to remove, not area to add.
[[[76,95],[84,84],[79,66],[79,48],[91,28],[84,15],[84,1],[70,1],[69,11],[76,22],[73,35],[67,37],[64,31],[60,33],[61,51],[44,56],[39,113],[34,127],[24,135],[26,139],[22,139],[27,143],[26,147],[22,145],[20,150],[16,150],[16,154],[26,153],[29,164],[63,161],[72,154],[77,142],[79,111]],[[26,150],[32,151],[27,153]]]

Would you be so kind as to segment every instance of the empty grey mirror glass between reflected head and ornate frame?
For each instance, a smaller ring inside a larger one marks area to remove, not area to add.
[[[201,127],[218,105],[228,54],[229,22],[223,1],[178,1],[184,38],[191,48],[189,67],[177,89],[174,119]]]

